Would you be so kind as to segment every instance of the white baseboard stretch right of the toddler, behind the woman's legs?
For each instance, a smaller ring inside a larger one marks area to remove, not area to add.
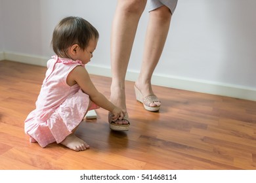
[[[91,65],[87,65],[87,68],[90,74],[111,77],[110,68]],[[135,71],[127,71],[125,79],[135,82],[138,76],[139,73]],[[256,101],[256,88],[245,88],[244,86],[222,84],[217,82],[210,82],[207,80],[192,80],[190,78],[179,78],[167,75],[153,75],[152,84],[156,86],[165,86],[168,88],[176,88],[192,92],[208,93],[213,95]]]

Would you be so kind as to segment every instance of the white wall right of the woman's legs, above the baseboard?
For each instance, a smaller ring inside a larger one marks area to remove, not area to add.
[[[157,72],[255,88],[255,8],[253,0],[179,1]]]

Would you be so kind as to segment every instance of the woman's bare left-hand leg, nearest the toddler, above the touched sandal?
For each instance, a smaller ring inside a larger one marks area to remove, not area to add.
[[[112,24],[110,101],[123,109],[124,112],[127,112],[125,75],[139,19],[145,6],[146,0],[119,0]]]

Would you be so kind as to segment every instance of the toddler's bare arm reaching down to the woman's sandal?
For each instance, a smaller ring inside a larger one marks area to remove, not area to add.
[[[91,100],[98,105],[113,114],[113,120],[123,119],[123,112],[120,108],[116,107],[113,103],[108,101],[106,97],[96,90],[95,85],[91,81],[89,73],[84,67],[77,66],[75,67],[70,74],[68,75],[67,82],[77,83],[83,92],[87,93],[90,96]]]

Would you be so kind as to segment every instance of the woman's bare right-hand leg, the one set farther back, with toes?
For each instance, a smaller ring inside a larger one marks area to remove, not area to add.
[[[171,22],[171,11],[162,6],[150,12],[150,20],[146,31],[144,53],[140,75],[135,85],[143,97],[154,94],[151,86],[151,78],[160,59],[165,44],[169,25]],[[161,102],[150,103],[150,107],[160,106]]]

